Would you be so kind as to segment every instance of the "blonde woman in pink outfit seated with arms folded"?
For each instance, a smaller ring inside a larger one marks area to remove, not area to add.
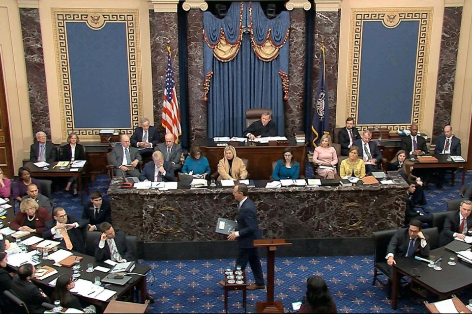
[[[321,137],[320,146],[315,148],[313,152],[313,162],[318,165],[316,172],[319,176],[325,179],[334,179],[338,156],[334,147],[331,146],[331,136],[329,134],[324,134]],[[332,169],[321,168],[320,166],[331,167]]]

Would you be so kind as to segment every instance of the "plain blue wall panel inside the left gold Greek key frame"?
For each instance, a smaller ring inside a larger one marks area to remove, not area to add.
[[[75,128],[130,128],[125,23],[67,22]]]

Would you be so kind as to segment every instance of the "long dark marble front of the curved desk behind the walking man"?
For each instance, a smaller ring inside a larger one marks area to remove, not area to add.
[[[232,188],[120,189],[114,179],[108,195],[115,228],[144,242],[224,240],[215,233],[218,217],[236,219]],[[253,187],[265,238],[370,237],[398,228],[405,215],[407,184],[362,186]]]

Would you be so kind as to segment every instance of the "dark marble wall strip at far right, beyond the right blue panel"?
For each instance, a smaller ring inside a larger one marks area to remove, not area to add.
[[[433,142],[437,136],[442,135],[442,128],[451,120],[461,19],[462,7],[444,8],[438,86],[434,108]],[[454,128],[454,126],[452,127]]]

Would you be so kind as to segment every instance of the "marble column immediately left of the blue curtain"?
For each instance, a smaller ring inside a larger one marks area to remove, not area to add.
[[[203,11],[187,13],[188,114],[190,143],[207,137],[207,103],[203,101]]]

